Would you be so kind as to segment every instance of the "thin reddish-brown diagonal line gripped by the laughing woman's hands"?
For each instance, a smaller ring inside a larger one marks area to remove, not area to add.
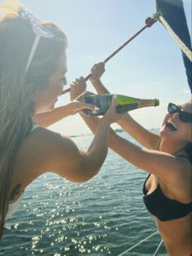
[[[127,40],[126,42],[124,42],[124,44],[122,46],[120,46],[116,51],[114,51],[111,55],[109,55],[105,60],[103,60],[104,63],[107,63],[108,60],[110,60],[113,56],[115,56],[117,54],[117,52],[119,52],[121,49],[124,48],[124,46],[128,45],[129,42],[131,42],[134,38],[136,38],[140,33],[142,33],[143,30],[145,30],[146,28],[150,28],[153,24],[155,24],[155,22],[158,20],[156,13],[154,15],[152,15],[152,17],[148,17],[146,18],[146,25],[144,27],[142,27],[142,29],[140,29],[139,31],[137,31],[137,33],[135,33],[133,35],[133,37],[129,38],[129,40]],[[89,80],[89,78],[91,77],[91,73],[89,73],[88,76],[85,77],[85,81]],[[70,91],[70,88],[68,88],[67,90],[63,90],[62,94],[67,93],[68,91]]]

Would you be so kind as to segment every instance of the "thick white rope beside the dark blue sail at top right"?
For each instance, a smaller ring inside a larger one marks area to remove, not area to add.
[[[187,46],[185,46],[185,43],[182,42],[180,38],[177,37],[177,34],[174,33],[174,31],[169,26],[167,21],[164,20],[164,17],[162,15],[159,15],[159,20],[164,25],[165,29],[168,30],[168,33],[170,33],[172,38],[177,42],[177,45],[181,48],[181,51],[183,51],[187,58],[192,62],[192,52],[190,51],[190,49]]]

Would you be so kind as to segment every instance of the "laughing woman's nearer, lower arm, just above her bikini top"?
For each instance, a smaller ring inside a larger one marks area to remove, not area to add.
[[[190,170],[171,154],[141,148],[116,134],[110,133],[109,146],[137,168],[155,174],[159,179],[169,183],[175,182],[172,178],[177,179],[178,170]]]

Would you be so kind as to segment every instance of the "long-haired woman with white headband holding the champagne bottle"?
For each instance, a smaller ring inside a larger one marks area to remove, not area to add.
[[[120,117],[115,101],[87,152],[34,123],[38,113],[50,111],[46,126],[83,108],[94,109],[74,99],[53,111],[66,84],[66,46],[66,36],[55,24],[40,23],[16,0],[0,3],[0,236],[25,188],[38,176],[52,171],[85,182],[107,156],[110,125]]]

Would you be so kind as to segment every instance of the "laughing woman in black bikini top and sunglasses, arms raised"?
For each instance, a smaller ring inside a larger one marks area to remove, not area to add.
[[[91,82],[98,94],[109,91],[100,77],[104,64],[95,64],[91,69]],[[85,90],[81,77],[71,86],[74,99]],[[95,132],[97,117],[81,113],[89,128]],[[191,255],[192,241],[192,102],[181,105],[168,104],[159,135],[140,126],[129,113],[118,124],[145,148],[138,147],[110,131],[109,147],[120,157],[137,168],[145,170],[148,177],[143,185],[143,201],[154,216],[159,233],[171,256]]]

